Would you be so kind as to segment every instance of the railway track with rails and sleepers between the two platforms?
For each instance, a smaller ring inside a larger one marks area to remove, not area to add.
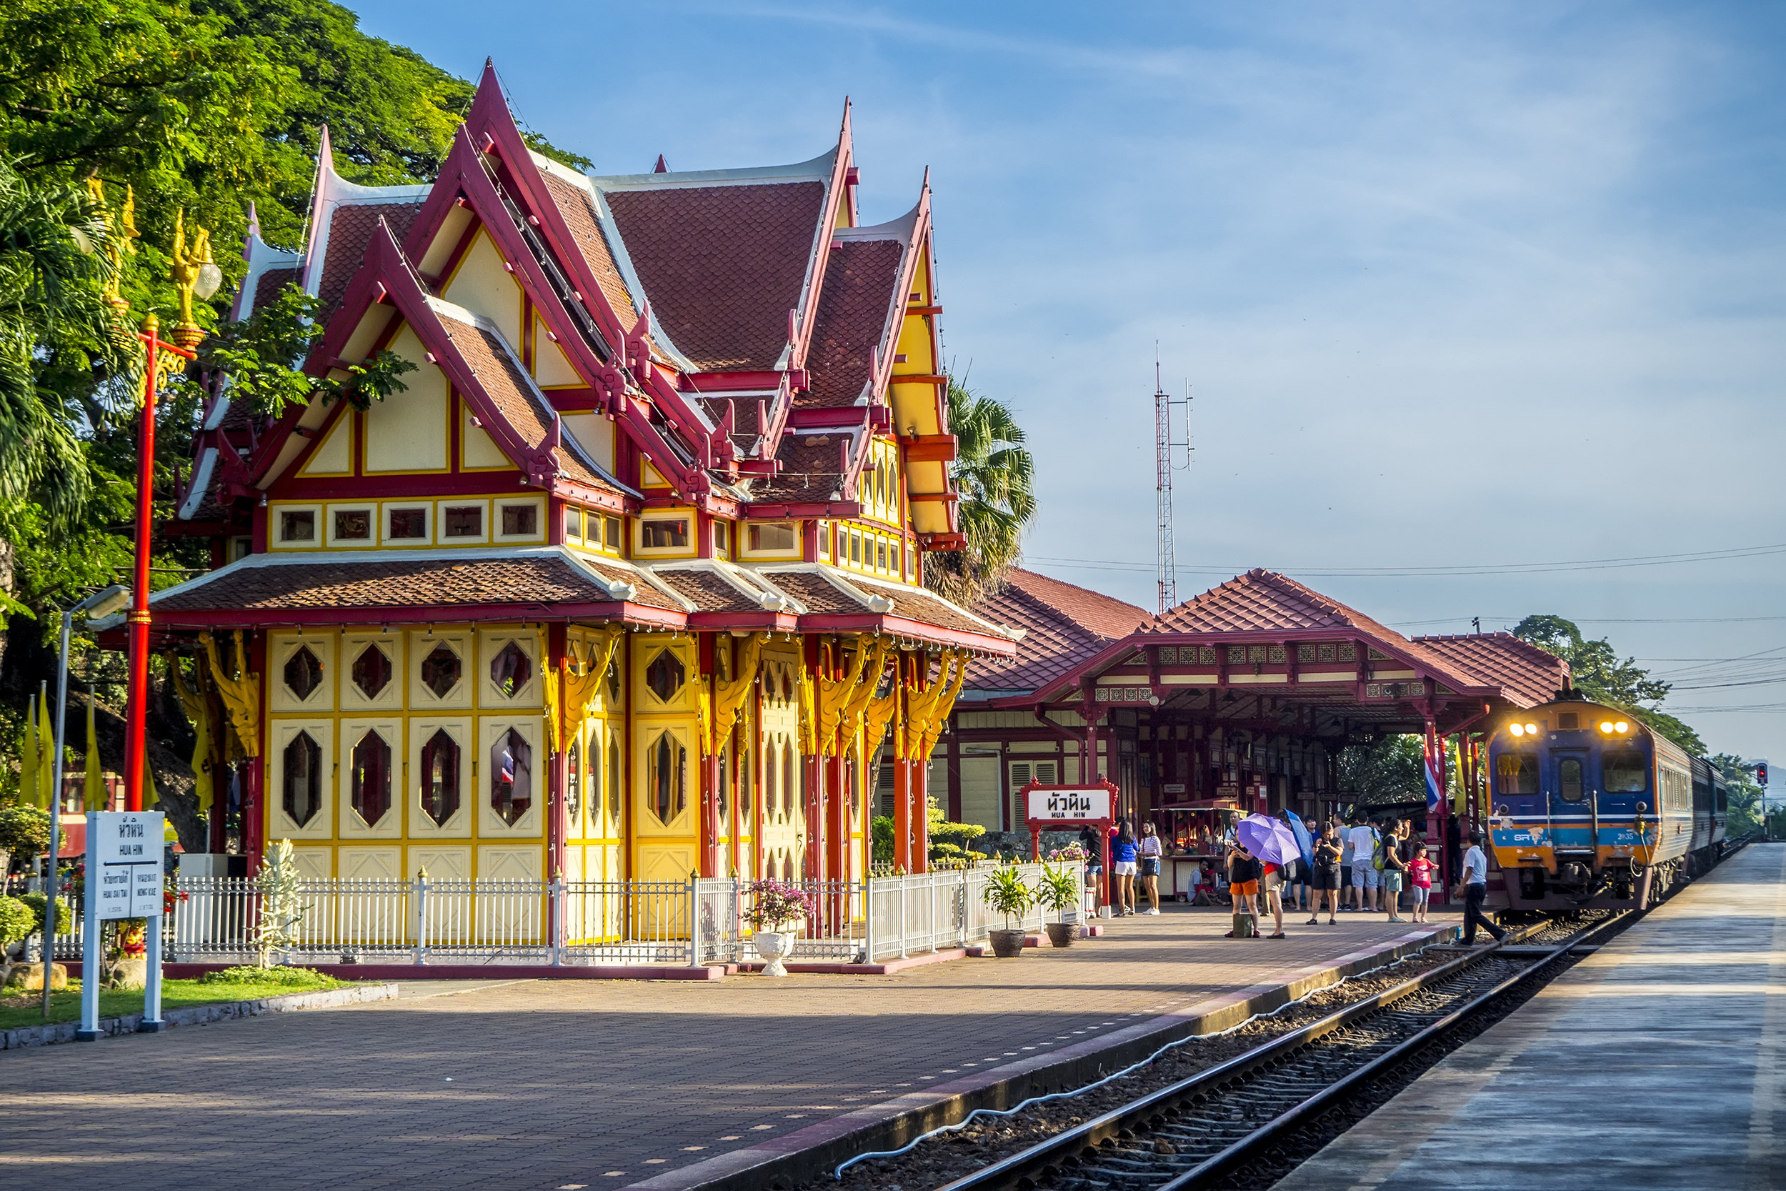
[[[1270,1186],[1343,1132],[1359,1109],[1388,1100],[1459,1045],[1461,1034],[1473,1036],[1511,1012],[1545,970],[1561,971],[1570,952],[1595,946],[1632,918],[1615,914],[1586,927],[1543,923],[1509,945],[1461,954],[939,1191]],[[1347,1120],[1329,1120],[1336,1112]]]

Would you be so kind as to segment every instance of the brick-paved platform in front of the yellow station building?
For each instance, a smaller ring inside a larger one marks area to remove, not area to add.
[[[123,1170],[182,1191],[698,1182],[697,1164],[798,1148],[852,1111],[1111,1045],[1416,930],[1341,914],[1234,941],[1227,925],[1168,907],[1070,950],[895,977],[418,982],[380,1005],[4,1054],[0,1187]]]

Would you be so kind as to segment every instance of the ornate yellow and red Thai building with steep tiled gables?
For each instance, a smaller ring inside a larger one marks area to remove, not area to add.
[[[923,868],[925,759],[1016,634],[922,586],[961,534],[913,182],[861,223],[848,109],[804,162],[589,179],[491,68],[427,186],[325,134],[236,316],[296,286],[307,373],[413,371],[279,416],[223,379],[164,527],[214,570],[152,600],[250,871],[859,880],[882,752]]]

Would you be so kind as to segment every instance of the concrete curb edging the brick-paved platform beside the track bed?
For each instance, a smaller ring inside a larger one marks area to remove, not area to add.
[[[973,1109],[1009,1109],[1050,1091],[1082,1087],[1138,1062],[1166,1043],[1216,1034],[1257,1012],[1270,1012],[1345,977],[1382,968],[1429,943],[1456,937],[1457,927],[1415,930],[1334,961],[1277,973],[1177,1012],[1138,1021],[1104,1037],[1073,1043],[1047,1055],[1020,1059],[948,1084],[863,1105],[782,1137],[720,1154],[680,1170],[630,1184],[648,1191],[764,1191],[829,1177],[843,1161],[870,1150],[897,1150],[913,1137],[954,1125]]]

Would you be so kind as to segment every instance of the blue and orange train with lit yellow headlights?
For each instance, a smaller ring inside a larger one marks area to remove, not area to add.
[[[1509,909],[1640,909],[1723,857],[1723,773],[1573,689],[1488,737],[1490,845]]]

